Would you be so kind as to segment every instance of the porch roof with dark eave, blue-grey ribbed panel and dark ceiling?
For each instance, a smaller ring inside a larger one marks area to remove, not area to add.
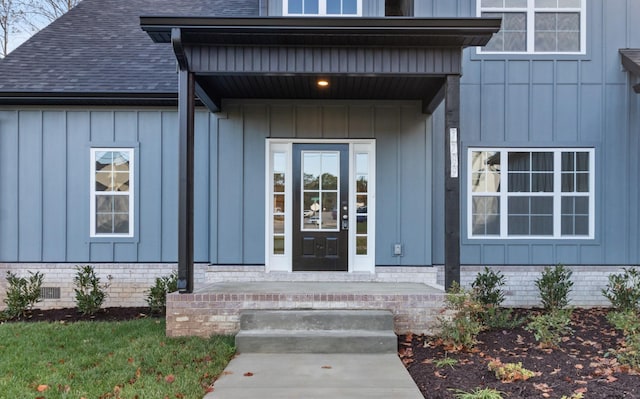
[[[462,72],[462,48],[500,28],[495,18],[140,20],[155,42],[173,43],[212,110],[225,98],[376,99],[422,100],[431,112],[446,76]]]

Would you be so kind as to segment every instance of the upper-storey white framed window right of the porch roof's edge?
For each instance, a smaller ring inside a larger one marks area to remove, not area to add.
[[[586,0],[478,0],[502,27],[480,53],[584,54]]]

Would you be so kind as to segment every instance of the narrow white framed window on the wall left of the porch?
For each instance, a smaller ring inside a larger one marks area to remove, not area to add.
[[[90,175],[91,237],[133,237],[133,148],[91,148]]]

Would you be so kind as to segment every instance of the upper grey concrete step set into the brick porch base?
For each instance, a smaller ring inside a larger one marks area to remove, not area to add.
[[[387,310],[245,310],[240,330],[370,330],[393,331]]]

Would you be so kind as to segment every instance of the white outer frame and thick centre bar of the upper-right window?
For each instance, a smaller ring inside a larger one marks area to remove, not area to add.
[[[535,0],[527,0],[526,7],[482,7],[482,0],[476,0],[476,16],[482,16],[482,12],[526,13],[527,19],[527,51],[487,51],[483,47],[477,48],[478,54],[586,54],[587,47],[587,1],[580,0],[580,7],[536,7]],[[536,12],[553,13],[579,13],[580,14],[580,51],[535,51],[535,14]]]

